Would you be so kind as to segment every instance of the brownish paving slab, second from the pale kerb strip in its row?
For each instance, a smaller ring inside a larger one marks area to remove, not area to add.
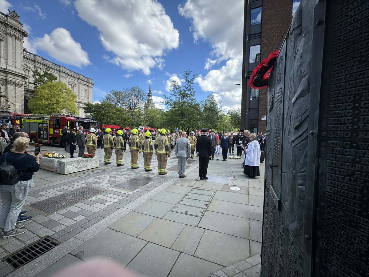
[[[170,248],[184,226],[182,223],[157,218],[137,237]]]

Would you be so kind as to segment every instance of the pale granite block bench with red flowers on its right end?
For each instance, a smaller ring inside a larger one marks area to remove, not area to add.
[[[63,158],[56,164],[56,172],[60,174],[69,174],[91,168],[99,167],[99,158]]]

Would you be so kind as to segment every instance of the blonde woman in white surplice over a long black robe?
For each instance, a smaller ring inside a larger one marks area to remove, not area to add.
[[[244,174],[251,178],[260,176],[260,146],[256,134],[249,135],[250,142],[246,145]]]

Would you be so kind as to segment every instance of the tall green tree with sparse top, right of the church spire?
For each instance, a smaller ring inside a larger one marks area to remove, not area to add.
[[[165,105],[168,108],[165,116],[165,122],[168,127],[177,127],[189,133],[199,127],[200,124],[200,104],[197,102],[194,90],[194,80],[196,74],[192,74],[192,70],[187,70],[183,73],[184,83],[179,85],[175,80],[172,80],[172,94],[165,96]]]

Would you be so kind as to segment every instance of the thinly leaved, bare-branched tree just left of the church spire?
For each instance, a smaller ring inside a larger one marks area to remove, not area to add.
[[[131,117],[134,126],[142,124],[146,93],[138,86],[122,90],[111,90],[101,99],[101,102],[111,103],[115,107],[121,107]]]

